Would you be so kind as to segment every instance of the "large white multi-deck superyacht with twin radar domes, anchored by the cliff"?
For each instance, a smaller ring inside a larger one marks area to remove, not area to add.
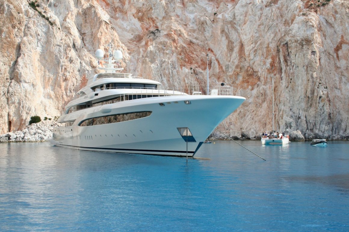
[[[178,88],[159,88],[159,82],[119,72],[114,62],[121,51],[108,57],[96,51],[105,72],[94,75],[79,97],[65,108],[54,130],[56,146],[101,152],[192,157],[215,127],[245,98],[233,96],[229,86],[210,95]]]

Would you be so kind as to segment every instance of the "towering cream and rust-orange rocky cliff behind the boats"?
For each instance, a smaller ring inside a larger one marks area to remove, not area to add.
[[[167,86],[233,86],[218,126],[343,138],[349,122],[348,0],[0,0],[0,133],[62,113],[112,41],[129,73]],[[218,132],[215,132],[216,134]]]

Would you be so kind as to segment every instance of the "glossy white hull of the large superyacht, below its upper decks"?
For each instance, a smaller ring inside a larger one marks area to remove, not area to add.
[[[244,100],[239,96],[180,95],[83,109],[72,126],[55,129],[52,144],[100,152],[192,157],[215,127]],[[87,118],[141,111],[151,111],[151,114],[124,122],[79,125]],[[60,120],[72,120],[73,117],[74,114],[67,114]],[[183,127],[190,130],[191,141],[186,141],[187,138],[180,134],[178,128]]]

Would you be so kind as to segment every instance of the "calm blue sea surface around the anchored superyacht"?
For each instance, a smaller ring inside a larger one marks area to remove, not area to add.
[[[349,142],[188,159],[0,144],[0,231],[349,231]]]

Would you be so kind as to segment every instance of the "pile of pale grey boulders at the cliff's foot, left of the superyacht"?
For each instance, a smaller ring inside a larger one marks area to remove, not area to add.
[[[0,142],[45,142],[52,139],[53,129],[63,126],[56,121],[41,121],[33,123],[23,130],[0,135]]]

